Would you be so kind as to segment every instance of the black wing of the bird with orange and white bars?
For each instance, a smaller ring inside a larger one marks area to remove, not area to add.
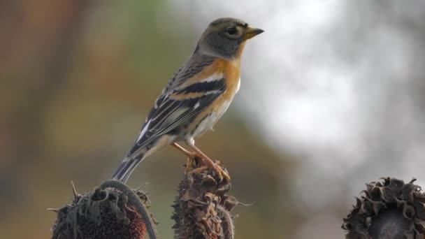
[[[202,66],[199,68],[203,68],[205,64],[199,66]],[[181,70],[178,72],[182,72],[181,75],[184,75],[184,78],[187,79],[201,70],[191,68],[188,71],[191,74],[188,75]],[[173,78],[178,76],[174,75]],[[201,110],[209,106],[226,90],[226,83],[221,75],[217,75],[215,79],[208,78],[208,80],[187,85],[185,88],[179,88],[178,85],[175,85],[175,82],[184,82],[184,80],[179,78],[173,80],[173,78],[168,82],[163,94],[155,101],[154,107],[150,110],[145,124],[143,124],[141,133],[127,155],[127,159],[137,154],[138,150],[148,147],[160,136],[193,120]],[[174,85],[170,87],[170,84]]]

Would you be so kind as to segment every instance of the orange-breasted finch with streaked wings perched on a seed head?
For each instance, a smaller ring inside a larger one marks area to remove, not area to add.
[[[126,183],[143,159],[166,145],[173,145],[189,160],[195,157],[203,160],[220,181],[230,180],[226,171],[196,147],[195,138],[212,129],[229,108],[240,87],[240,57],[245,43],[262,32],[231,17],[210,22],[192,55],[175,71],[154,101],[113,180]],[[190,150],[179,145],[180,142]]]

